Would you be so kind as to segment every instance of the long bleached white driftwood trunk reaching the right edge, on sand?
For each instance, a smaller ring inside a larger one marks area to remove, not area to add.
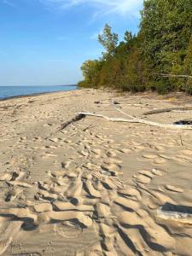
[[[119,110],[119,109],[118,109]],[[123,113],[121,110],[119,110],[121,113]],[[152,125],[152,126],[157,126],[161,128],[166,128],[166,129],[177,129],[177,130],[192,130],[192,125],[169,125],[169,124],[160,124],[156,123],[153,121],[148,121],[144,119],[139,119],[135,118],[129,114],[126,114],[129,116],[131,119],[123,119],[123,118],[116,118],[116,117],[108,117],[103,114],[97,114],[97,113],[90,113],[90,112],[81,112],[79,114],[82,114],[83,116],[95,116],[99,117],[102,119],[107,119],[108,121],[112,122],[124,122],[124,123],[141,123],[143,125]]]

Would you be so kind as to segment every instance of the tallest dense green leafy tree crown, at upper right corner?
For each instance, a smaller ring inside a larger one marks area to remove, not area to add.
[[[192,0],[145,0],[141,32],[143,53],[161,73],[182,66],[192,31]]]

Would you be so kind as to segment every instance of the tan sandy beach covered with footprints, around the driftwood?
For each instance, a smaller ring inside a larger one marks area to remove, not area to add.
[[[192,255],[192,131],[85,117],[191,107],[76,90],[0,102],[0,255]],[[172,124],[192,111],[144,117]]]

